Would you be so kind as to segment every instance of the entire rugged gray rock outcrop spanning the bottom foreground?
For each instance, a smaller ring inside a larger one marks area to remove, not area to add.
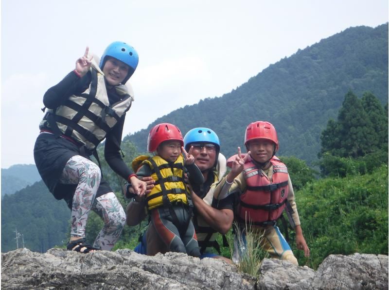
[[[218,259],[131,250],[1,254],[1,289],[388,289],[388,256],[330,255],[314,271],[265,259],[259,279]]]

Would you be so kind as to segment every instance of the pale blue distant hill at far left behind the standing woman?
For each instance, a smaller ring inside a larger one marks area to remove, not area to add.
[[[7,169],[1,168],[1,198],[5,194],[14,194],[40,179],[35,164],[17,164]]]

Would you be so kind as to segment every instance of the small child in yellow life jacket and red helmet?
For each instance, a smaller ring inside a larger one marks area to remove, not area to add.
[[[147,209],[151,211],[151,221],[161,240],[172,252],[199,257],[195,228],[191,221],[193,205],[184,175],[189,173],[192,184],[204,183],[204,177],[195,165],[191,154],[193,148],[187,153],[183,146],[182,134],[177,126],[158,124],[150,130],[147,140],[147,151],[154,152],[154,156],[140,156],[132,165],[134,171],[138,169],[138,177],[152,177],[155,180],[154,187],[146,192],[146,201]],[[128,196],[128,191],[125,192]]]

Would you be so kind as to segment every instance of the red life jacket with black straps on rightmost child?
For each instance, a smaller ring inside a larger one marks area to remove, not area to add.
[[[272,182],[251,160],[244,164],[247,188],[239,197],[237,219],[255,226],[274,225],[283,213],[288,196],[288,170],[278,158],[273,165]]]

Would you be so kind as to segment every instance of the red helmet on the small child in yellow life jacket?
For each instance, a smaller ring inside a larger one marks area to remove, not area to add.
[[[147,138],[147,151],[154,152],[159,144],[167,140],[177,140],[181,143],[181,146],[184,145],[181,131],[176,125],[161,123],[154,126]]]

